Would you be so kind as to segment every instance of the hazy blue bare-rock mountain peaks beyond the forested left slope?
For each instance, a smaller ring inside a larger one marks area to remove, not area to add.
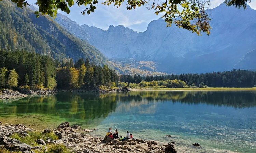
[[[166,27],[163,19],[148,24],[144,32],[124,26],[108,30],[79,26],[66,16],[55,21],[75,36],[97,47],[106,57],[124,61],[153,61],[165,73],[205,73],[232,69],[256,70],[256,10],[226,6],[207,10],[211,34],[198,36],[174,24]]]

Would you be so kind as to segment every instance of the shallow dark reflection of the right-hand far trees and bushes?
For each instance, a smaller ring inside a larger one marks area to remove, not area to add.
[[[137,91],[120,93],[120,101],[149,102],[167,100],[173,103],[207,104],[214,106],[227,106],[234,108],[250,108],[256,106],[255,91]]]

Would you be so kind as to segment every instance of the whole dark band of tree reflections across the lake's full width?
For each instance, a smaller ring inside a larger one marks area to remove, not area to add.
[[[58,93],[30,96],[14,101],[0,101],[0,115],[53,114],[67,119],[92,120],[106,118],[115,112],[117,101],[207,104],[233,108],[256,106],[256,92],[211,91],[136,91],[121,93]]]

